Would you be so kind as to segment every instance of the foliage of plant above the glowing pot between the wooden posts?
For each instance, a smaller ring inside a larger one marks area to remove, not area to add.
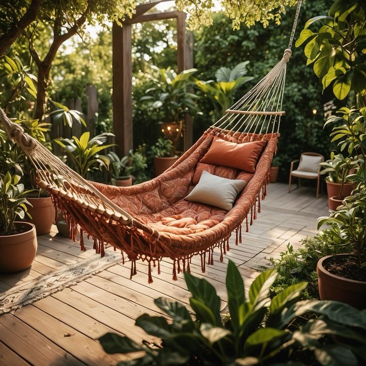
[[[151,78],[155,87],[148,89],[148,95],[142,96],[140,100],[148,101],[150,107],[159,112],[159,122],[178,122],[186,113],[196,111],[195,100],[198,96],[190,92],[194,85],[192,75],[196,69],[177,74],[170,68],[159,69],[153,65],[151,68],[157,74]]]

